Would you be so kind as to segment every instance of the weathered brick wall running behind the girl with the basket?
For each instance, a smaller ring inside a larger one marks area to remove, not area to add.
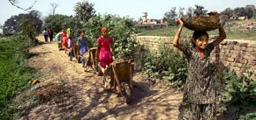
[[[136,38],[150,51],[157,51],[159,43],[173,47],[171,37],[137,36]],[[211,37],[214,38],[216,37]],[[191,37],[187,36],[183,39],[191,39]],[[248,75],[244,65],[249,67],[249,71],[256,72],[256,41],[224,39],[211,53],[211,62],[215,64],[218,72],[221,72],[223,67],[227,67],[230,71],[235,70],[238,75],[242,73]],[[218,74],[222,76],[222,73]],[[252,79],[256,81],[255,76]]]

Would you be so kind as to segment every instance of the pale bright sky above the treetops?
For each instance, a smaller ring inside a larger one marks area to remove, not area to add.
[[[8,0],[0,0],[0,25],[12,15],[27,13],[12,6]],[[18,0],[19,6],[27,8],[34,0]],[[38,0],[34,5],[35,11],[41,11],[42,18],[50,14],[50,3],[58,4],[56,14],[74,15],[74,5],[83,0]],[[246,4],[256,6],[256,0],[88,0],[94,4],[94,10],[100,14],[114,14],[120,17],[130,17],[138,20],[142,12],[147,12],[147,18],[160,19],[172,7],[193,7],[195,4],[204,6],[207,11],[221,12],[226,8],[245,7]],[[184,10],[186,11],[186,10]]]

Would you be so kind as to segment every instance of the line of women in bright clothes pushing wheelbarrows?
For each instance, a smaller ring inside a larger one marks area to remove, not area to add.
[[[65,53],[69,54],[71,57],[70,60],[72,60],[73,55],[75,55],[79,62],[83,63],[85,71],[87,70],[87,67],[89,67],[87,66],[87,60],[89,57],[88,52],[92,46],[89,44],[84,31],[80,32],[80,37],[78,38],[77,43],[74,42],[74,39],[70,34],[70,29],[67,29],[67,31],[64,31],[63,29],[62,32],[57,33],[55,40],[59,45],[61,45],[59,46],[59,49],[64,49]],[[113,39],[109,36],[109,29],[107,27],[102,27],[101,36],[97,40],[97,45],[95,60],[100,62],[100,65],[103,68],[106,68],[106,66],[113,61],[112,54],[114,54],[114,57],[117,59],[117,54],[113,46]],[[110,48],[112,52],[110,51]],[[76,51],[76,54],[74,54],[73,51]],[[102,75],[103,72],[100,71],[100,74]]]

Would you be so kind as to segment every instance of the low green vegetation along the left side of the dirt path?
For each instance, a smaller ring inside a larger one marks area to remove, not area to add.
[[[0,39],[0,117],[11,119],[14,109],[9,109],[11,99],[28,88],[27,82],[36,78],[36,70],[27,67],[31,56],[27,39],[23,36]]]

